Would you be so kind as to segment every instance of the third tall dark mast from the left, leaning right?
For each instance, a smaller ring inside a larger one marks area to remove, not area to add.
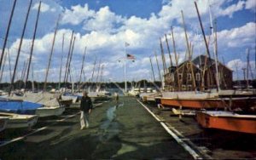
[[[35,24],[35,28],[34,28],[34,34],[33,34],[33,39],[32,39],[32,47],[31,47],[31,50],[30,50],[28,68],[27,68],[27,73],[26,73],[26,80],[25,80],[25,91],[26,91],[26,82],[27,82],[27,79],[28,79],[28,76],[29,76],[30,65],[31,65],[31,61],[32,61],[32,54],[33,54],[33,49],[34,49],[34,41],[35,41],[35,38],[36,38],[37,29],[38,29],[38,20],[39,20],[40,9],[41,9],[41,1],[39,3],[39,6],[38,6],[37,20],[36,20],[36,24]]]

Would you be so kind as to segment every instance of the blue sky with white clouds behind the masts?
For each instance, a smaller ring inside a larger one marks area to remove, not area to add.
[[[14,0],[0,0],[0,54],[3,39],[6,37],[10,11]],[[25,37],[21,46],[16,80],[26,66],[32,46],[38,0],[32,1],[32,9],[26,25]],[[210,54],[213,57],[214,38],[212,36],[210,13],[216,24],[218,36],[218,60],[233,70],[233,79],[243,78],[242,68],[247,67],[247,50],[249,52],[249,78],[256,77],[256,1],[255,0],[197,0],[202,25],[209,39]],[[7,51],[13,70],[19,48],[20,37],[25,23],[28,0],[17,0],[15,13],[11,22]],[[55,46],[49,68],[49,82],[61,81],[67,63],[67,53],[72,31],[76,37],[71,61],[73,82],[79,81],[85,51],[84,75],[82,80],[90,80],[96,61],[96,70],[92,81],[102,78],[105,82],[141,79],[153,80],[149,57],[152,59],[154,74],[159,79],[154,52],[160,57],[160,41],[163,44],[166,64],[171,62],[166,47],[165,34],[169,43],[172,63],[174,52],[172,46],[171,26],[177,47],[178,63],[186,60],[186,41],[183,21],[187,29],[189,43],[193,46],[193,58],[206,54],[200,23],[196,14],[194,1],[190,0],[42,0],[38,20],[33,56],[32,73],[29,79],[44,81],[49,54],[53,42],[56,22]],[[64,48],[62,52],[62,38]],[[129,45],[125,45],[129,44]],[[126,60],[125,54],[132,54],[136,60]],[[8,57],[5,60],[3,82],[9,82]],[[100,69],[99,69],[100,66]],[[102,77],[97,75],[101,75]],[[98,77],[98,78],[97,78]]]

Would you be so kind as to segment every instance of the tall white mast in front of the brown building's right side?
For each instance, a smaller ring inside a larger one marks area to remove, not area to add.
[[[208,1],[209,3],[209,1]],[[211,10],[211,6],[209,4],[209,14],[210,14],[210,28],[211,28],[211,31],[212,31],[212,36],[214,37],[214,46],[213,46],[213,55],[214,55],[214,60],[215,60],[215,71],[216,71],[216,74],[215,74],[215,78],[216,78],[216,83],[217,83],[217,90],[219,91],[220,90],[220,87],[219,87],[219,77],[218,77],[218,56],[217,56],[217,33],[214,34],[214,30],[213,30],[213,25],[212,25],[212,10]],[[215,25],[216,26],[216,25]],[[215,32],[217,32],[215,30]]]

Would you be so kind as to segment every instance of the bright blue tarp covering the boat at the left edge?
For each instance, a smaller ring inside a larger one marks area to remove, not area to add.
[[[35,114],[42,104],[19,100],[0,100],[0,111],[18,114]]]

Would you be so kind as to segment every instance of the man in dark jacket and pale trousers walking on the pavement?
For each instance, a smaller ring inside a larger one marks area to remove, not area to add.
[[[81,117],[80,117],[80,124],[81,124],[81,129],[89,128],[89,115],[92,110],[92,103],[90,100],[90,97],[88,96],[88,93],[84,91],[83,97],[81,99],[81,104],[80,104],[80,111],[81,111]]]

